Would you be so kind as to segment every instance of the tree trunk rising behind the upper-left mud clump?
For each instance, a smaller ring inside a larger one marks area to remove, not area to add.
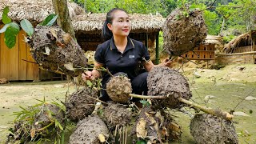
[[[52,2],[55,14],[58,14],[58,26],[61,26],[62,30],[64,30],[66,33],[71,34],[71,37],[76,39],[66,0],[52,0]]]

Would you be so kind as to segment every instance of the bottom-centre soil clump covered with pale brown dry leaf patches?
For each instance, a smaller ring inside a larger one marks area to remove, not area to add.
[[[144,107],[139,114],[131,134],[137,138],[148,139],[151,143],[162,143],[178,140],[182,134],[181,127],[163,111],[154,111]]]

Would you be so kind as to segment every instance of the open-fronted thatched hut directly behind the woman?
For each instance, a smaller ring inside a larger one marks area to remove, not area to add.
[[[161,15],[152,14],[129,14],[132,30],[130,38],[144,42],[150,51],[155,47],[158,52],[158,34],[162,30],[164,18]],[[76,31],[78,43],[84,50],[96,50],[98,44],[102,43],[102,26],[106,19],[106,14],[79,14],[74,16],[73,26]],[[155,40],[156,46],[154,45]],[[152,53],[151,53],[152,54]],[[159,57],[156,54],[156,61]]]

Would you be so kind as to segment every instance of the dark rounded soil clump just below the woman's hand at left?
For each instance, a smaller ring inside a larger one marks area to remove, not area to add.
[[[98,91],[90,87],[85,87],[70,94],[65,103],[67,117],[74,122],[78,122],[92,114],[96,103],[95,98],[98,97],[97,94]]]

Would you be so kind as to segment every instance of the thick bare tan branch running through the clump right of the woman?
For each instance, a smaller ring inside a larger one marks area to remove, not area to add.
[[[129,94],[130,97],[134,97],[134,98],[145,98],[145,99],[164,99],[166,98],[166,96],[145,96],[145,95],[138,95],[138,94]],[[194,102],[190,102],[184,98],[181,97],[181,94],[179,94],[180,97],[178,97],[178,101],[179,102],[183,102],[187,105],[189,105],[190,107],[194,107],[194,108],[197,108],[199,110],[202,110],[203,112],[205,112],[206,114],[212,114],[212,115],[215,115],[217,117],[220,117],[220,118],[224,118],[226,120],[232,120],[232,118],[234,118],[234,115],[232,114],[229,114],[228,112],[224,111],[224,110],[221,110],[221,109],[213,109],[213,108],[210,108],[210,107],[206,107],[206,106],[201,106],[201,105],[198,105]]]

